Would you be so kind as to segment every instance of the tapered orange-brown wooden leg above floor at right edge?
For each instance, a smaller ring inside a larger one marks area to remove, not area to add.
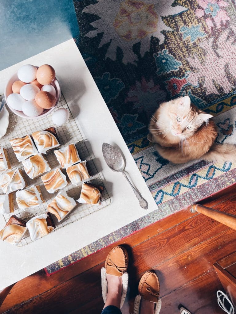
[[[225,212],[222,212],[217,209],[213,209],[210,207],[205,207],[199,204],[193,204],[192,208],[201,214],[206,215],[207,217],[210,217],[216,221],[219,221],[223,225],[228,226],[229,228],[232,228],[236,230],[236,216],[232,214],[228,214]]]

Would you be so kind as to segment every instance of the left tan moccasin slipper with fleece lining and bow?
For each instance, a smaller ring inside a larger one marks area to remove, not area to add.
[[[126,249],[122,246],[115,246],[109,252],[105,267],[101,269],[102,277],[102,296],[104,303],[106,303],[107,298],[107,275],[113,275],[121,277],[122,279],[122,296],[121,296],[121,307],[124,304],[127,290],[128,290],[128,267],[129,257]]]

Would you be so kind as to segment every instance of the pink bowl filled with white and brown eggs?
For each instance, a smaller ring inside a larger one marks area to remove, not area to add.
[[[5,99],[17,116],[38,119],[58,105],[61,89],[52,66],[25,64],[7,82]]]

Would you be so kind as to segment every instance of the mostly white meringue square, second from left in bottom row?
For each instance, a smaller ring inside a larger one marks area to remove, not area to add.
[[[50,213],[42,214],[31,218],[26,223],[26,227],[29,230],[32,241],[42,238],[48,235],[54,230],[55,225],[53,223]]]

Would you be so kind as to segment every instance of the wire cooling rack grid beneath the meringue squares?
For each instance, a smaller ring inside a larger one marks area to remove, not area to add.
[[[7,107],[7,106],[6,106]],[[61,94],[61,98],[58,104],[59,108],[67,108],[69,109],[66,100],[64,96]],[[7,149],[8,157],[11,163],[12,169],[20,168],[22,169],[24,173],[25,181],[27,182],[28,186],[31,186],[34,184],[35,186],[39,185],[41,188],[42,196],[45,200],[45,202],[41,206],[37,206],[35,208],[29,208],[25,210],[21,210],[18,208],[16,203],[16,197],[14,192],[14,213],[11,214],[3,214],[5,221],[7,222],[11,215],[16,215],[17,217],[28,221],[32,217],[35,217],[37,215],[41,215],[46,213],[48,204],[53,200],[53,198],[58,194],[59,191],[55,193],[48,193],[47,190],[44,187],[44,184],[42,183],[41,178],[37,178],[34,180],[31,180],[24,171],[24,167],[21,162],[19,162],[14,154],[14,151],[11,147],[11,144],[9,140],[11,138],[17,138],[17,137],[23,137],[26,134],[31,134],[35,131],[40,131],[47,129],[49,127],[54,126],[57,132],[57,136],[59,138],[60,144],[63,145],[69,145],[72,143],[76,144],[76,148],[79,152],[79,156],[81,160],[87,160],[87,167],[88,171],[91,174],[92,178],[85,180],[85,182],[89,182],[92,184],[102,185],[104,187],[104,193],[101,200],[101,205],[90,205],[90,204],[81,204],[76,203],[76,208],[74,208],[70,214],[66,216],[65,219],[63,219],[61,222],[58,222],[56,217],[53,215],[53,221],[55,224],[55,229],[52,232],[55,232],[67,225],[72,224],[73,222],[80,220],[88,215],[91,215],[98,210],[107,207],[110,205],[110,197],[107,193],[107,190],[104,186],[104,177],[101,173],[98,173],[96,166],[94,165],[93,159],[94,156],[89,153],[86,142],[83,140],[82,135],[80,133],[80,130],[75,122],[75,119],[73,118],[71,112],[68,122],[63,124],[62,126],[56,127],[52,122],[52,115],[48,114],[47,116],[43,118],[39,118],[37,120],[31,120],[31,119],[24,119],[17,115],[15,115],[12,111],[9,110],[9,126],[7,133],[3,136],[3,138],[0,139],[0,145],[1,147]],[[70,111],[70,109],[69,109]],[[56,160],[56,156],[53,152],[46,155],[46,159],[48,161],[48,164],[52,169],[60,167],[58,161]],[[7,171],[5,171],[7,172]],[[2,171],[2,173],[4,173]],[[80,196],[82,187],[82,182],[79,186],[72,185],[71,182],[68,183],[68,185],[63,188],[63,190],[72,198],[77,200]],[[3,191],[0,192],[0,194],[3,194]],[[28,231],[26,231],[24,237],[22,238],[19,245],[25,246],[29,243],[31,243],[32,240],[29,236]]]

